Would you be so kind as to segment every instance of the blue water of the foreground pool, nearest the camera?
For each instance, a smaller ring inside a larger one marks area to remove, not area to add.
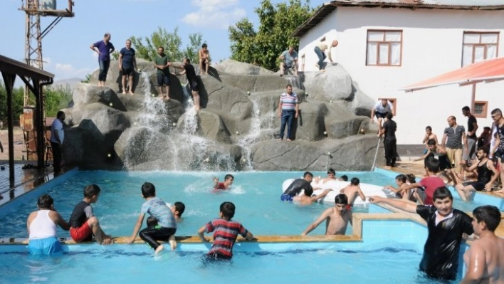
[[[0,283],[438,283],[417,270],[421,254],[408,246],[246,243],[224,262],[204,261],[203,245],[182,246],[157,257],[144,245],[68,246],[51,258],[0,253]]]

